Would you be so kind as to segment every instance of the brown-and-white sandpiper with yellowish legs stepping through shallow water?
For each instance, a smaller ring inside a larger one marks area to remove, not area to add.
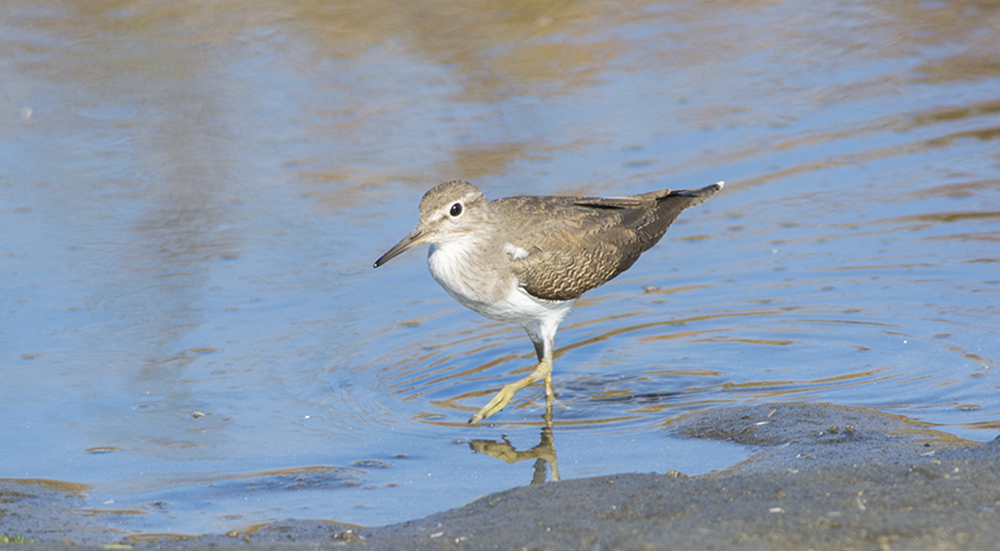
[[[520,323],[528,332],[538,355],[535,371],[505,385],[469,423],[500,411],[514,393],[540,380],[551,407],[555,334],[576,299],[629,269],[681,211],[722,186],[612,198],[489,201],[472,184],[453,180],[424,195],[417,227],[375,267],[430,243],[431,275],[449,295],[488,318]]]

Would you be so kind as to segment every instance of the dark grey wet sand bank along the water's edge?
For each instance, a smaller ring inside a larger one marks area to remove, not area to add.
[[[697,477],[620,474],[514,488],[378,528],[287,520],[196,538],[116,536],[49,484],[0,482],[11,549],[995,549],[1000,439],[957,440],[873,410],[774,404],[697,412],[670,431],[753,446]]]

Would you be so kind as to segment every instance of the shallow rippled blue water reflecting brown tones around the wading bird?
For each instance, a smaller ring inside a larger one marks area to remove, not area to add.
[[[708,472],[746,451],[670,424],[730,404],[1000,429],[991,3],[0,10],[0,477],[125,533]],[[519,327],[371,268],[452,178],[727,187],[577,304],[549,430],[540,387],[465,424]]]

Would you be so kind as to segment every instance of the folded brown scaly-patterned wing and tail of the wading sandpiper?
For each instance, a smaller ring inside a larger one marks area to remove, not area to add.
[[[518,281],[532,296],[572,300],[624,272],[655,245],[684,209],[721,186],[660,190],[622,198],[511,197],[494,201],[520,225],[509,241],[527,256],[513,258]],[[513,215],[514,213],[520,216]]]

